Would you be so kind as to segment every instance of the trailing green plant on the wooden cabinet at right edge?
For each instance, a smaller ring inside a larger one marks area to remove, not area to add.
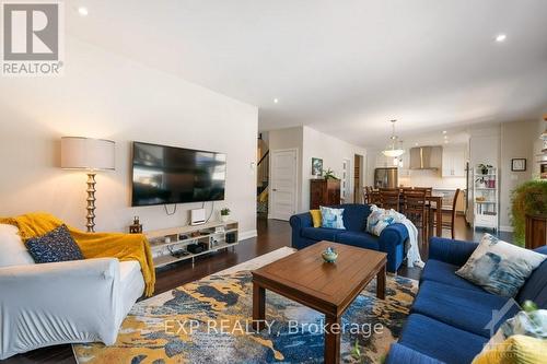
[[[511,193],[514,242],[524,246],[526,214],[547,215],[547,180],[528,180]]]

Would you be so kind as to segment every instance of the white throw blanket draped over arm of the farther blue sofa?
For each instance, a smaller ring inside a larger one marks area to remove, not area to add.
[[[408,267],[423,267],[424,263],[420,257],[420,249],[418,248],[418,228],[415,224],[408,220],[404,214],[397,211],[384,210],[375,204],[371,204],[371,213],[366,219],[366,231],[371,234],[380,236],[385,227],[399,223],[405,225],[408,231],[408,243],[405,246],[407,253],[407,266]]]

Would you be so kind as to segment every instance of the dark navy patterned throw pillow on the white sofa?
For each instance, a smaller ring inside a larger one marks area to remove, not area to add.
[[[46,235],[30,238],[25,245],[37,263],[84,259],[65,224]]]

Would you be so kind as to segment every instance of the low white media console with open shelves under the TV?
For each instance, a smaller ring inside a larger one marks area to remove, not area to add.
[[[155,268],[176,261],[191,259],[226,249],[240,244],[240,230],[236,221],[209,222],[196,226],[178,226],[144,232],[150,242]],[[190,251],[199,245],[202,251]],[[190,250],[189,250],[190,249]]]

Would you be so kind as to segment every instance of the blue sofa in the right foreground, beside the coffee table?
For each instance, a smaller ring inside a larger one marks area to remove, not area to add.
[[[433,237],[430,239],[420,290],[397,343],[392,344],[387,364],[470,363],[505,319],[519,307],[455,274],[477,243]],[[547,254],[547,246],[536,249]],[[547,308],[547,260],[528,278],[514,298]],[[499,310],[492,320],[492,310]]]

